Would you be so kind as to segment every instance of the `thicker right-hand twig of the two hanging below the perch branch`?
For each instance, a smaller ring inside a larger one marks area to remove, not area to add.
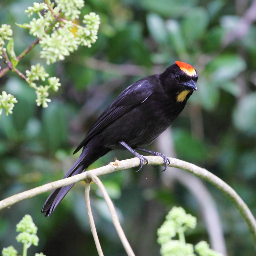
[[[108,196],[108,192],[107,192],[106,188],[104,187],[104,185],[102,184],[100,179],[95,174],[93,174],[92,172],[89,174],[89,177],[92,178],[92,180],[99,187],[100,192],[101,192],[103,198],[105,199],[105,201],[108,205],[108,209],[109,209],[109,212],[111,213],[113,224],[116,228],[116,232],[117,232],[117,234],[118,234],[118,236],[119,236],[119,238],[120,238],[120,240],[121,240],[121,242],[124,246],[124,249],[125,249],[126,253],[128,254],[128,256],[135,256],[134,252],[132,251],[132,247],[129,244],[129,242],[128,242],[125,234],[124,234],[124,230],[121,227],[121,224],[118,220],[116,210],[115,210],[115,206],[112,203],[110,197]]]

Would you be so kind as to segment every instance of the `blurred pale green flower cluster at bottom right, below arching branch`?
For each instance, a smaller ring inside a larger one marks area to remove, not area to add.
[[[161,244],[162,256],[196,256],[193,244],[185,241],[185,231],[196,227],[196,217],[187,214],[182,207],[174,206],[166,215],[166,220],[157,230],[157,242]],[[179,239],[172,239],[178,234]],[[209,245],[201,241],[195,246],[199,256],[223,256],[209,248]]]

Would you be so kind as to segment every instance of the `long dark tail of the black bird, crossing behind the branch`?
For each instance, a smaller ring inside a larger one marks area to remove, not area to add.
[[[108,148],[94,148],[94,150],[90,147],[84,148],[82,154],[77,159],[76,163],[71,167],[68,173],[63,177],[63,179],[71,177],[73,175],[82,173],[85,169],[88,168],[90,164],[95,162],[101,156],[104,156],[108,153],[110,149]],[[44,213],[45,217],[49,217],[50,214],[54,211],[60,201],[66,196],[70,188],[73,187],[74,184],[68,185],[62,188],[56,188],[52,191],[51,195],[46,199],[44,206],[42,208],[42,213]]]

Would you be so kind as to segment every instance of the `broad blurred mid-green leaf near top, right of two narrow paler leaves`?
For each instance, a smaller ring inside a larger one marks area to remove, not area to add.
[[[188,12],[181,24],[181,29],[188,45],[191,45],[193,41],[204,35],[208,23],[208,13],[203,7],[193,8]]]

